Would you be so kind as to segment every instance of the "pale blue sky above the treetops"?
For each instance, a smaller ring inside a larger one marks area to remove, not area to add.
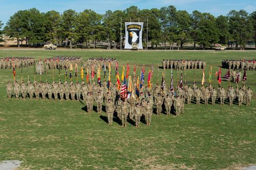
[[[135,5],[143,9],[174,5],[177,10],[209,12],[214,16],[226,15],[231,10],[256,11],[256,0],[0,0],[0,20],[5,24],[15,12],[37,8],[41,12],[51,10],[62,13],[72,9],[77,12],[91,9],[104,14],[107,10],[125,10]]]

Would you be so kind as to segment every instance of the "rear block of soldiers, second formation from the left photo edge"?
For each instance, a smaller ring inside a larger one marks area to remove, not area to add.
[[[65,69],[70,64],[75,65],[82,62],[82,57],[78,56],[57,56],[45,59],[45,69]],[[60,67],[60,68],[59,68]]]

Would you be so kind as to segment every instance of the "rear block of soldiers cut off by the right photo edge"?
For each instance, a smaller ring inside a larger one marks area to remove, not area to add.
[[[253,60],[222,60],[222,67],[236,70],[256,70],[255,59]]]

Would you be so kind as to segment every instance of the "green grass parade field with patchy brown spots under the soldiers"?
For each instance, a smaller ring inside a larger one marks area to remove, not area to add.
[[[205,84],[209,67],[213,66],[213,86],[217,66],[223,59],[252,59],[256,52],[204,51],[107,51],[107,50],[0,50],[0,57],[52,56],[114,57],[121,64],[156,65],[163,59],[201,59],[206,61]],[[130,66],[132,67],[132,66]],[[131,69],[132,70],[132,69]],[[33,67],[23,68],[23,77],[34,79]],[[113,71],[114,72],[114,71]],[[132,72],[132,71],[131,71]],[[163,69],[159,69],[162,75]],[[170,86],[170,70],[165,81]],[[177,84],[177,72],[174,71]],[[226,69],[222,69],[222,76]],[[114,74],[114,73],[113,73]],[[246,87],[254,92],[251,106],[220,106],[219,104],[185,105],[179,117],[153,114],[150,127],[129,123],[121,128],[117,118],[106,123],[106,113],[87,114],[83,101],[7,99],[6,83],[13,81],[12,70],[0,70],[0,161],[21,160],[20,169],[236,169],[256,164],[256,71],[247,71]],[[147,77],[147,76],[146,76]],[[178,72],[180,77],[180,71]],[[194,70],[186,70],[187,83],[192,85]],[[201,82],[202,70],[196,70],[196,82]],[[184,78],[184,76],[183,76]],[[36,76],[38,80],[38,75]],[[58,79],[58,71],[55,71]],[[17,70],[17,80],[21,73]],[[45,81],[45,76],[42,77]],[[52,72],[48,80],[52,81]],[[61,71],[64,81],[64,71]],[[115,80],[114,75],[112,80]],[[81,81],[81,80],[80,80]],[[159,76],[161,81],[161,76]],[[185,80],[183,79],[183,82]],[[222,81],[227,88],[228,82]],[[236,86],[235,83],[231,83]],[[242,86],[239,83],[239,87]]]

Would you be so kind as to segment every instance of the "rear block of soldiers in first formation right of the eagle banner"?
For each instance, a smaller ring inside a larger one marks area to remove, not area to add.
[[[163,69],[204,69],[206,62],[204,60],[163,60]]]

